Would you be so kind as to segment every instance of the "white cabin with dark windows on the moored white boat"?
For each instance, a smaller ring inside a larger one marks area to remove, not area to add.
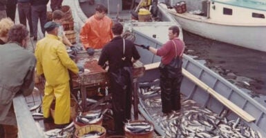
[[[221,23],[265,25],[266,2],[247,0],[211,0],[209,16]]]

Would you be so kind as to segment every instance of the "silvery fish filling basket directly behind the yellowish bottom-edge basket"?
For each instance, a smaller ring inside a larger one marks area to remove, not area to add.
[[[90,112],[78,115],[76,121],[82,124],[95,124],[103,117],[101,112]]]

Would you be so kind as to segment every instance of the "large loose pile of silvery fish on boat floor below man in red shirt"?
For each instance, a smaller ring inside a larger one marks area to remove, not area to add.
[[[262,138],[259,132],[236,120],[228,120],[227,110],[217,115],[207,108],[196,106],[193,100],[182,102],[180,112],[171,112],[169,115],[162,113],[152,115],[155,123],[164,130],[166,137],[249,137]]]

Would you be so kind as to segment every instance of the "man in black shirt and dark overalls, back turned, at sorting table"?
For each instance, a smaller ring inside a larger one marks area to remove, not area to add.
[[[122,39],[121,23],[114,23],[112,31],[114,38],[102,49],[98,64],[104,67],[108,61],[115,132],[121,135],[124,133],[123,122],[131,119],[132,67],[140,55],[131,41]]]

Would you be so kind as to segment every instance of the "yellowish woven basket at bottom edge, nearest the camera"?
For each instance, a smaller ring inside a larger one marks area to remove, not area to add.
[[[75,138],[83,137],[88,132],[92,131],[98,131],[98,132],[104,132],[99,138],[105,138],[106,135],[106,129],[99,125],[89,125],[89,126],[82,126],[81,128],[77,128],[75,130]]]

